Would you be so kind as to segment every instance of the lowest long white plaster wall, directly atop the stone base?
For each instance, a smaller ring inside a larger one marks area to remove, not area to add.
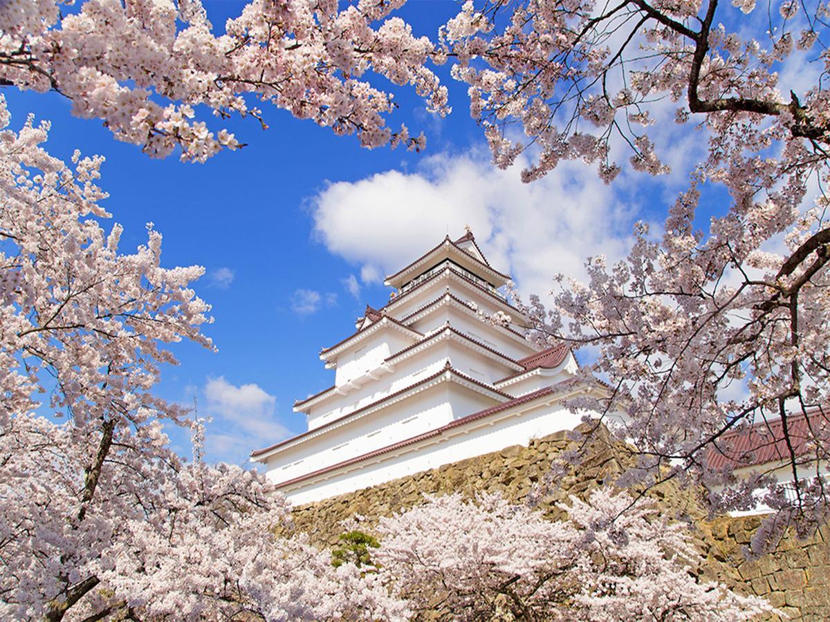
[[[452,430],[453,435],[411,445],[407,453],[378,456],[374,462],[354,465],[354,470],[348,473],[334,474],[329,479],[310,479],[281,492],[292,503],[311,503],[510,445],[527,445],[533,438],[572,430],[580,422],[581,415],[556,404],[515,409]]]

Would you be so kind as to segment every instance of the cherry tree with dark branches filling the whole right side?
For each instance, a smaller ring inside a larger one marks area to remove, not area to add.
[[[613,397],[574,406],[627,413],[621,434],[639,464],[620,484],[734,484],[712,495],[717,510],[745,508],[749,490],[767,485],[777,513],[760,546],[828,516],[830,41],[821,2],[769,2],[763,16],[754,0],[733,5],[466,2],[442,45],[495,163],[535,158],[525,181],[582,159],[611,182],[626,150],[633,171],[667,173],[674,124],[705,142],[662,231],[637,225],[626,260],[591,258],[587,283],[560,277],[551,309],[538,298],[526,309],[541,342],[598,352],[583,373],[606,379]],[[706,231],[701,202],[717,206]],[[808,438],[796,439],[790,422],[806,415]],[[736,482],[732,467],[763,448],[722,442],[773,418],[789,495],[769,478]],[[717,454],[730,460],[715,472]]]

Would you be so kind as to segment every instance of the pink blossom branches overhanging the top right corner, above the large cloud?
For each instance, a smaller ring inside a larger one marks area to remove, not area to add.
[[[755,5],[734,3],[743,12]],[[804,3],[802,15],[797,2],[770,5],[779,12],[769,32],[754,39],[740,28],[740,12],[726,15],[733,9],[719,0],[467,0],[440,41],[457,61],[452,75],[469,85],[471,115],[497,166],[509,167],[530,148],[535,164],[525,181],[581,159],[596,163],[610,182],[620,171],[612,154],[621,146],[632,151],[634,170],[668,172],[650,134],[665,104],[676,108],[678,123],[699,122],[714,137],[711,165],[727,157],[717,137],[730,133],[745,133],[733,151],[758,153],[770,139],[827,143],[828,95],[820,78],[798,95],[787,85],[782,94],[778,83],[789,56],[830,62],[826,41],[811,49],[825,34],[826,7]],[[727,17],[734,29],[719,21]],[[764,116],[773,127],[757,126]]]

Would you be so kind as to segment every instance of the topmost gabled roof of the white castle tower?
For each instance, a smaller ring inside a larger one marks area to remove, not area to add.
[[[510,276],[491,268],[484,253],[476,244],[476,237],[473,236],[470,227],[467,226],[465,229],[466,233],[456,241],[452,241],[450,236],[445,237],[439,245],[428,250],[425,255],[414,260],[403,270],[398,270],[394,275],[386,277],[383,284],[406,289],[406,286],[414,279],[425,275],[437,265],[450,263],[474,275],[477,279],[485,281],[493,288],[500,288],[510,280]]]

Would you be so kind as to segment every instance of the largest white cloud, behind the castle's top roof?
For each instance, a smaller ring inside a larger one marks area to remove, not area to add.
[[[582,277],[588,256],[627,254],[638,207],[583,163],[562,163],[532,184],[520,167],[486,157],[439,154],[416,173],[378,173],[337,182],[311,204],[315,232],[335,255],[360,267],[364,283],[407,265],[449,231],[470,225],[491,265],[520,289],[544,294],[558,273]]]

